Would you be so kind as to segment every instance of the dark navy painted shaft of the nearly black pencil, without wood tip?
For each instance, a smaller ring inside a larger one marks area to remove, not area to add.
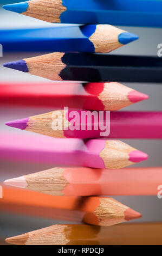
[[[158,57],[107,56],[67,53],[61,80],[162,82],[162,62]]]

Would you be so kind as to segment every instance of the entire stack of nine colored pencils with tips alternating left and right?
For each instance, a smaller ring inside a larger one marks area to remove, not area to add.
[[[10,135],[6,139],[0,135],[0,157],[66,166],[5,180],[5,185],[17,188],[4,186],[0,209],[85,223],[53,225],[6,241],[17,245],[123,244],[119,239],[122,225],[106,226],[141,214],[107,196],[155,195],[162,170],[121,169],[148,156],[116,139],[161,139],[162,112],[118,112],[148,99],[121,82],[162,82],[162,62],[158,57],[105,53],[138,39],[116,25],[161,27],[162,3],[31,0],[4,5],[4,9],[52,23],[84,24],[0,31],[4,51],[50,52],[5,63],[5,67],[55,81],[1,84],[0,103],[57,109],[7,122],[45,136]],[[141,229],[140,224],[123,227],[132,236],[134,228],[134,236]],[[113,232],[119,232],[116,242],[110,239]],[[144,241],[151,239],[146,234]]]

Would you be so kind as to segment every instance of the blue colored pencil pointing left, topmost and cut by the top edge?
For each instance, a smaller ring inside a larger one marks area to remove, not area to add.
[[[53,23],[162,27],[158,0],[33,0],[3,8]]]

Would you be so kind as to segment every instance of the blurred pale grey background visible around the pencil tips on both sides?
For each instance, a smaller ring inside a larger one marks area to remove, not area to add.
[[[3,3],[13,3],[21,1],[1,1],[0,5],[0,29],[15,29],[15,28],[38,28],[38,27],[54,27],[61,25],[53,25],[44,21],[39,21],[31,17],[21,14],[12,13],[2,9]],[[120,26],[118,26],[120,27]],[[111,54],[128,54],[128,55],[143,55],[157,56],[158,44],[162,44],[162,29],[160,28],[137,28],[137,27],[120,27],[126,31],[138,34],[140,39],[131,44],[123,46],[115,50]],[[1,38],[0,38],[1,44]],[[31,76],[20,71],[3,68],[3,63],[10,62],[22,58],[32,57],[43,53],[3,53],[0,57],[0,83],[2,82],[50,82],[45,78]],[[161,57],[162,58],[162,57]],[[125,111],[162,111],[162,84],[159,83],[124,83],[126,86],[139,90],[139,92],[150,95],[150,99],[144,102],[139,102],[132,106],[126,107]],[[29,132],[12,129],[5,126],[6,121],[29,117],[31,115],[46,113],[53,109],[39,107],[20,107],[20,106],[2,106],[0,105],[0,132],[7,133],[22,133],[30,135]],[[162,143],[160,140],[122,140],[132,147],[144,151],[149,155],[149,159],[145,162],[135,164],[135,167],[140,166],[161,166],[161,151]],[[1,143],[1,141],[0,141]],[[34,164],[24,162],[6,162],[0,161],[0,183],[5,179],[15,178],[33,172],[38,172],[54,167],[50,164]],[[159,180],[159,185],[162,185],[162,180]],[[157,190],[158,192],[158,190]],[[156,196],[141,196],[141,197],[114,197],[121,203],[126,204],[130,208],[141,212],[142,218],[137,222],[160,222],[162,221],[162,199]],[[3,200],[3,199],[0,199]],[[135,221],[134,221],[135,222]],[[49,220],[45,218],[35,218],[31,216],[21,216],[10,214],[9,212],[0,212],[0,243],[5,244],[4,239],[8,236],[15,236],[27,231],[47,227],[48,225],[61,223],[58,220]],[[65,222],[64,222],[65,223]],[[67,222],[66,222],[67,223]]]

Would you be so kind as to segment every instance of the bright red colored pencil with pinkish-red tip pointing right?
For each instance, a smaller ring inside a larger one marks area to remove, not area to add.
[[[1,83],[0,104],[114,111],[148,95],[120,83]]]

